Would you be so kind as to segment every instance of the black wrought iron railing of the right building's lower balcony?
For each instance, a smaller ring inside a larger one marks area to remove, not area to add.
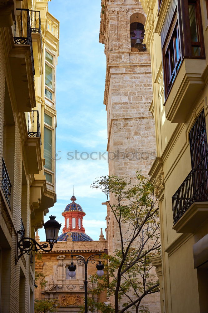
[[[194,202],[208,201],[208,169],[192,169],[172,197],[175,224]]]

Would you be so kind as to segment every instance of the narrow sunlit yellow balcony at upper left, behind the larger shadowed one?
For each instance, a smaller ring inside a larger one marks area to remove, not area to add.
[[[32,35],[32,49],[36,76],[42,74],[42,34],[40,11],[30,10],[30,25]]]

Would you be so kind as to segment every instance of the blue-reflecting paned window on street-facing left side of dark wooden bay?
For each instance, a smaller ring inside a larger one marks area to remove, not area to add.
[[[171,39],[166,45],[165,54],[165,69],[166,69],[166,94],[171,88],[171,85],[176,77],[176,73],[181,64],[181,49],[179,44],[178,23],[173,30]]]

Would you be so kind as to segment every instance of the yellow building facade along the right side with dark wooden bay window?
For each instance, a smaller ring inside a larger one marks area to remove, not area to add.
[[[208,2],[141,0],[151,54],[161,312],[208,312]]]

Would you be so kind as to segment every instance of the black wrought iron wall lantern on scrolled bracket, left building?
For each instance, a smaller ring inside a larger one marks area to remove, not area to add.
[[[25,237],[25,229],[24,226],[21,225],[21,229],[17,231],[18,237],[20,240],[17,242],[17,255],[16,255],[16,264],[17,261],[21,258],[21,256],[25,253],[30,255],[31,251],[42,250],[44,252],[49,252],[53,249],[53,245],[57,242],[58,232],[61,228],[62,224],[59,224],[55,218],[56,216],[49,216],[50,220],[43,224],[46,232],[46,241],[47,243],[39,244],[37,241],[30,237]],[[49,248],[50,249],[47,249]],[[20,254],[18,255],[18,249],[20,250]]]

